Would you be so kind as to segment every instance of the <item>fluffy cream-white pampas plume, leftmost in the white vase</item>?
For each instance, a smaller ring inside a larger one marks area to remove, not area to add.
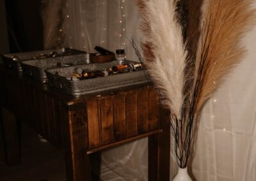
[[[175,4],[170,0],[141,0],[143,40],[150,45],[154,61],[145,61],[148,72],[161,90],[166,105],[181,119],[184,103],[184,68],[187,52],[182,43],[179,23],[175,20]]]

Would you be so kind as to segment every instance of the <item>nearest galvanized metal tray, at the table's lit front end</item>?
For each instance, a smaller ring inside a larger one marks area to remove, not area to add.
[[[80,66],[83,69],[90,71],[102,71],[106,68],[118,64],[134,63],[131,61],[112,61],[100,64],[86,64]],[[141,69],[120,74],[111,74],[109,76],[86,79],[86,80],[68,80],[67,77],[72,75],[77,66],[70,66],[67,68],[56,68],[45,70],[48,84],[51,88],[73,96],[100,94],[101,92],[111,92],[116,89],[125,89],[128,87],[140,87],[141,85],[148,85],[152,83],[147,70]]]

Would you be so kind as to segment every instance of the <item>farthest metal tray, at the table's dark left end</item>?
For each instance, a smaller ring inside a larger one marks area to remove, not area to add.
[[[54,53],[54,54],[52,54]],[[15,71],[22,71],[22,67],[20,62],[34,60],[34,59],[45,59],[51,57],[61,57],[68,55],[77,55],[77,54],[85,54],[85,52],[81,50],[71,49],[71,48],[58,48],[52,50],[40,50],[33,52],[20,52],[15,54],[3,54],[3,62],[8,67]],[[17,57],[19,61],[13,61],[13,56]]]

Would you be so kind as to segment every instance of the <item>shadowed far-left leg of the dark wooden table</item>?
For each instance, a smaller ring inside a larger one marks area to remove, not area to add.
[[[6,164],[13,165],[20,163],[20,145],[19,145],[19,131],[17,120],[13,113],[1,108],[2,113],[2,132],[4,143],[4,154]]]

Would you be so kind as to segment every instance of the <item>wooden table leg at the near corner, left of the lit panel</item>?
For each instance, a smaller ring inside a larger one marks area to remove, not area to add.
[[[68,107],[66,173],[68,181],[90,181],[90,156],[88,145],[86,112],[82,105]]]

